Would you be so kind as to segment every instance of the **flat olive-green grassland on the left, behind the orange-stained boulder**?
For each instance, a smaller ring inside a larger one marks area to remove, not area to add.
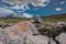
[[[18,23],[18,22],[28,21],[28,20],[30,20],[30,19],[26,19],[26,18],[13,18],[13,19],[0,19],[0,22]]]

